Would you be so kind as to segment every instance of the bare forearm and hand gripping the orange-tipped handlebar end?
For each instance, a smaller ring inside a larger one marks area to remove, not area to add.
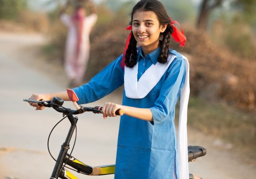
[[[118,109],[123,109],[123,114],[131,117],[135,117],[142,120],[153,121],[153,115],[150,109],[147,108],[134,108],[130,106],[124,106],[115,103],[106,103],[102,108],[103,118],[116,117],[115,112]]]

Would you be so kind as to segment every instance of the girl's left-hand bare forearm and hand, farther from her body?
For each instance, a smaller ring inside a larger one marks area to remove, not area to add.
[[[57,92],[57,93],[49,93],[49,94],[32,94],[29,99],[47,101],[47,100],[51,100],[55,96],[62,98],[64,101],[70,100],[68,97],[67,91],[62,91],[62,92]],[[29,104],[31,106],[36,107],[36,110],[42,110],[45,108],[44,106],[39,106],[36,103],[29,103]]]

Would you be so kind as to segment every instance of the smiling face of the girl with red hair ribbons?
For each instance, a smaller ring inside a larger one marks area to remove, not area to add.
[[[137,45],[142,47],[144,55],[152,52],[159,46],[159,35],[167,25],[160,25],[154,11],[137,10],[133,14],[133,35]]]

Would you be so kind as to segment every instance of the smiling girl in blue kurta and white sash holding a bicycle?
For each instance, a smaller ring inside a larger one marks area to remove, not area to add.
[[[187,104],[189,65],[186,58],[169,50],[169,40],[184,45],[157,0],[141,0],[133,8],[127,50],[87,84],[74,89],[86,104],[124,84],[123,104],[106,103],[103,117],[123,109],[116,157],[116,179],[188,179]],[[180,100],[179,139],[176,142],[174,112]],[[33,94],[31,99],[69,100],[67,92]],[[36,104],[36,109],[43,107]]]

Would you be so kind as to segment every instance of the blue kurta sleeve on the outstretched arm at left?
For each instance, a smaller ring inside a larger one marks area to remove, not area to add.
[[[73,89],[79,98],[78,104],[87,104],[113,92],[123,85],[122,56],[119,56],[101,72],[94,76],[87,84]]]

